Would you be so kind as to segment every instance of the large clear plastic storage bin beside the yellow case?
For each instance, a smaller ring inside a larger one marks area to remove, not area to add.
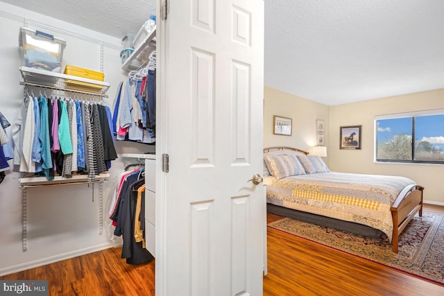
[[[66,45],[65,40],[54,35],[20,28],[19,46],[22,49],[22,65],[25,67],[61,72]]]

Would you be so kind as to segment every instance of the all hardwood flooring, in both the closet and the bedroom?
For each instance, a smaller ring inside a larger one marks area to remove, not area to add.
[[[424,208],[444,213],[444,207]],[[268,223],[277,219],[280,216],[267,216]],[[0,279],[46,279],[49,295],[155,295],[155,261],[128,265],[120,255],[120,248],[112,248]],[[430,296],[444,295],[444,287],[268,229],[264,295]]]

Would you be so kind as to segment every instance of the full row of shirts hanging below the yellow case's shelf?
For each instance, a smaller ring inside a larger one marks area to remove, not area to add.
[[[117,159],[110,113],[96,102],[26,97],[12,128],[14,164],[48,180],[55,172],[85,173],[94,180]]]

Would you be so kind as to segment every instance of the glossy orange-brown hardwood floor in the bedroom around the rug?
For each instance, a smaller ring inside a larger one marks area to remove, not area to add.
[[[425,205],[444,213],[444,207]],[[281,217],[268,214],[267,223]],[[268,228],[264,295],[444,295],[444,287]]]

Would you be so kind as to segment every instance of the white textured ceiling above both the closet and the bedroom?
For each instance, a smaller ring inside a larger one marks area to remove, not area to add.
[[[1,0],[115,37],[155,0]],[[265,0],[264,84],[325,105],[444,88],[443,0]]]

